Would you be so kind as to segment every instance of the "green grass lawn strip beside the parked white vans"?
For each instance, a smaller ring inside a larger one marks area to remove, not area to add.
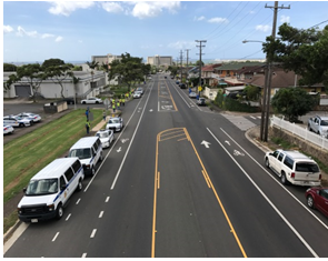
[[[101,121],[102,110],[92,110],[91,128]],[[43,167],[68,152],[86,135],[85,110],[79,109],[3,147],[3,203],[27,187]]]

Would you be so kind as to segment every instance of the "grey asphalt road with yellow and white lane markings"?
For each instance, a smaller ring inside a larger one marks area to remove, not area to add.
[[[245,124],[153,77],[60,221],[22,224],[6,258],[328,257],[328,221],[264,167]],[[245,121],[243,121],[245,120]]]

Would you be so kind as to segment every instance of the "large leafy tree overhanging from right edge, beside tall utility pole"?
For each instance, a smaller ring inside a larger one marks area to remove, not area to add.
[[[328,26],[321,31],[297,29],[287,23],[279,27],[278,38],[268,37],[264,51],[270,61],[281,62],[302,78],[300,86],[322,82],[328,87]]]

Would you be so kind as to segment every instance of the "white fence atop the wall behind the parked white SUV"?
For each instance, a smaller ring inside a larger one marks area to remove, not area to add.
[[[307,140],[318,147],[321,147],[325,150],[328,150],[328,139],[309,131],[307,128],[297,126],[276,116],[271,118],[271,126],[280,127],[281,129],[287,130],[292,134],[300,137],[304,140]]]

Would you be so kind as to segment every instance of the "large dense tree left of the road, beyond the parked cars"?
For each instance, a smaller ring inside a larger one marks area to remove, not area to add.
[[[146,68],[148,70],[148,67]],[[142,58],[131,57],[130,53],[121,54],[121,60],[113,60],[110,63],[109,80],[119,76],[119,80],[131,89],[138,81],[143,80],[146,71]]]

